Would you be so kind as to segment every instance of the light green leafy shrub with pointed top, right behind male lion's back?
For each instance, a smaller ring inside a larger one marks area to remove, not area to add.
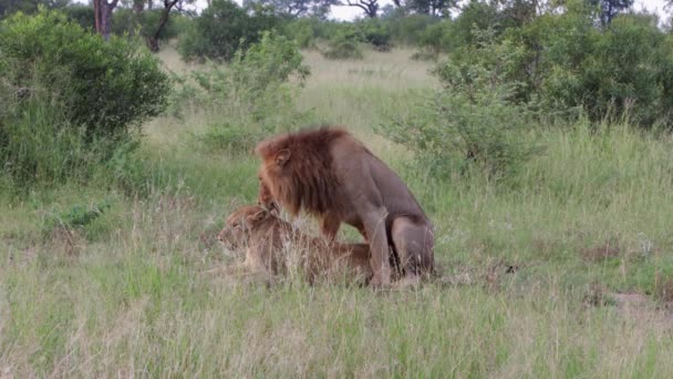
[[[476,165],[491,180],[507,180],[538,152],[528,143],[530,110],[512,101],[518,83],[503,76],[512,53],[494,43],[491,32],[469,60],[442,63],[444,89],[416,104],[412,116],[380,130],[410,147],[436,176]]]

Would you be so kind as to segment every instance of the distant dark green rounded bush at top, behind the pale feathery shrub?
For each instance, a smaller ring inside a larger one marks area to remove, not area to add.
[[[240,8],[229,0],[214,0],[187,29],[178,43],[185,60],[230,60],[238,50],[259,41],[260,32],[279,25],[272,9]]]

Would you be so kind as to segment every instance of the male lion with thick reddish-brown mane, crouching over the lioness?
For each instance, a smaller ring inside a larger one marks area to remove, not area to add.
[[[340,127],[271,137],[255,150],[262,158],[258,201],[280,203],[290,214],[319,216],[333,239],[342,222],[371,247],[373,286],[391,283],[389,259],[405,283],[434,273],[433,225],[400,176]],[[389,246],[392,247],[392,256]]]

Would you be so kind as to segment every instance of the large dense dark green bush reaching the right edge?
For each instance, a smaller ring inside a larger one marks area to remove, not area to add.
[[[600,30],[582,7],[537,18],[508,33],[526,49],[510,75],[526,81],[526,98],[547,109],[582,107],[591,121],[625,112],[642,127],[671,127],[673,40],[653,21],[620,16]]]

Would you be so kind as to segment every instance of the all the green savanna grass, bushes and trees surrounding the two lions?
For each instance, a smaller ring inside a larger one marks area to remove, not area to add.
[[[0,378],[671,377],[662,20],[358,3],[0,0]],[[441,278],[206,273],[241,260],[215,235],[256,198],[255,143],[321,123],[408,184]]]

